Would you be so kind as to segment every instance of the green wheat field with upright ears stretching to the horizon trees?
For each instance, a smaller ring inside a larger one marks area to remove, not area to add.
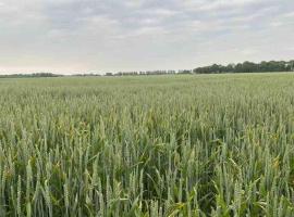
[[[0,79],[0,216],[294,216],[294,74]]]

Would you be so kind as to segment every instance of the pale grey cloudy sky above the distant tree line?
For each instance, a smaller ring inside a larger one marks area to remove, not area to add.
[[[0,74],[293,59],[293,0],[0,0]]]

